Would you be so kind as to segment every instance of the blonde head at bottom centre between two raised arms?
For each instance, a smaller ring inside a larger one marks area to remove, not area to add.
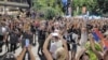
[[[65,48],[60,47],[56,50],[56,59],[57,60],[65,60],[66,59],[66,50]]]

